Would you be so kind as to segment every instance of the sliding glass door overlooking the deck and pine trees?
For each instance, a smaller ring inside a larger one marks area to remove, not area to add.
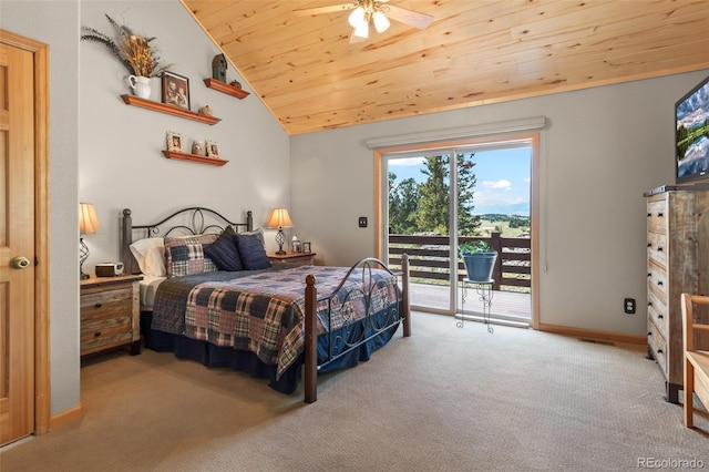
[[[412,307],[479,315],[470,298],[461,312],[458,246],[483,239],[499,252],[493,317],[531,320],[532,156],[531,140],[382,154],[382,247],[394,266],[409,254]]]

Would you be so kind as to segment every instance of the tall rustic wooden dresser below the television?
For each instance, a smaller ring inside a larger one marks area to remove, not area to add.
[[[667,401],[679,403],[684,372],[680,295],[709,294],[709,185],[664,186],[645,197],[648,357],[665,376]]]

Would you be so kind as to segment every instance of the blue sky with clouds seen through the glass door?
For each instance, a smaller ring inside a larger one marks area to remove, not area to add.
[[[425,175],[420,171],[422,160],[390,160],[389,171],[397,174],[397,182],[409,177],[423,182]],[[531,147],[476,151],[473,162],[473,172],[477,177],[473,197],[475,214],[530,214]]]

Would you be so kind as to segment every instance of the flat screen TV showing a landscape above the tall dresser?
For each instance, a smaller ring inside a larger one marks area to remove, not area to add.
[[[675,104],[677,183],[709,181],[709,78]]]

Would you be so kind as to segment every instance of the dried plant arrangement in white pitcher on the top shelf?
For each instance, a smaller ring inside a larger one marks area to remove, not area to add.
[[[81,40],[105,45],[132,75],[153,78],[162,74],[168,65],[162,65],[157,49],[152,44],[155,38],[136,34],[125,24],[119,24],[107,14],[115,38],[93,28],[81,27]]]

